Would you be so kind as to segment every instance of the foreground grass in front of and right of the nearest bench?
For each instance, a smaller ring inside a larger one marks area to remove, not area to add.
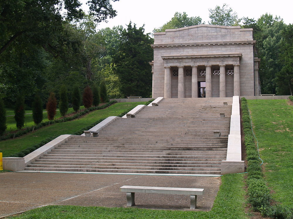
[[[211,211],[167,211],[141,208],[105,208],[80,206],[45,206],[36,208],[21,215],[8,218],[113,218],[113,219],[149,219],[149,218],[182,218],[182,219],[247,219],[244,212],[243,174],[222,176],[222,185]]]

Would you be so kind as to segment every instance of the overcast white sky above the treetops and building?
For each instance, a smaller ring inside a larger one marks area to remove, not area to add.
[[[87,0],[81,0],[86,2]],[[117,16],[108,19],[108,23],[102,22],[98,29],[117,25],[129,24],[131,20],[141,27],[145,25],[145,33],[150,33],[154,28],[160,27],[173,17],[176,11],[186,12],[189,17],[200,16],[202,21],[208,24],[209,8],[214,9],[216,5],[228,4],[238,17],[248,17],[258,19],[265,13],[283,18],[286,24],[293,23],[292,0],[262,1],[262,0],[120,0],[112,2],[113,8],[117,11]]]

